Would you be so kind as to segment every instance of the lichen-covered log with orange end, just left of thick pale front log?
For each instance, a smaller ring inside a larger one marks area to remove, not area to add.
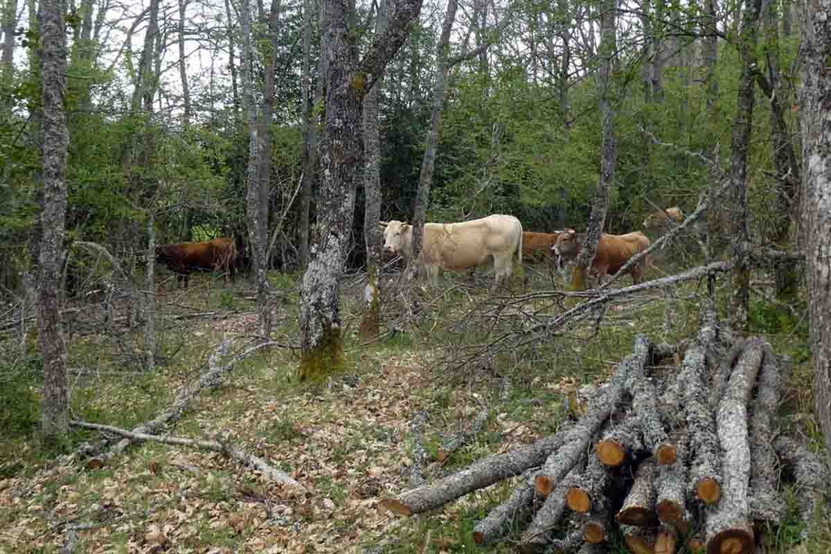
[[[686,381],[684,404],[691,453],[689,491],[691,496],[702,502],[713,504],[721,498],[721,461],[715,418],[706,402],[705,370],[701,346],[693,346],[686,351],[681,363],[681,375]]]

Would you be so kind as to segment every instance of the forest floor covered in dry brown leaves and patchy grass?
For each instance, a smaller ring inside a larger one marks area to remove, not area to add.
[[[537,277],[534,292],[551,288]],[[297,345],[296,280],[273,278],[273,339],[282,346],[249,356],[224,385],[196,396],[170,435],[221,434],[287,472],[304,490],[269,483],[219,453],[183,446],[136,444],[101,468],[87,468],[75,453],[82,441],[99,440],[97,432],[73,430],[60,448],[43,446],[37,439],[37,358],[31,336],[30,353],[12,353],[20,350],[18,332],[0,336],[0,352],[7,352],[0,365],[8,362],[9,368],[0,375],[0,552],[61,552],[71,528],[79,529],[72,552],[470,552],[475,522],[506,497],[510,482],[409,519],[379,505],[407,488],[416,415],[426,410],[428,481],[551,434],[568,412],[568,393],[603,380],[631,351],[636,333],[668,342],[693,335],[697,295],[706,289],[698,282],[678,287],[669,312],[662,293],[616,302],[599,326],[584,321],[549,341],[478,364],[463,356],[469,346],[496,336],[510,317],[509,302],[494,310],[484,287],[445,277],[454,286],[418,292],[417,316],[398,321],[396,333],[361,345],[356,302],[362,285],[353,277],[342,293],[348,368],[308,385],[297,383],[297,351],[290,347]],[[118,317],[96,325],[95,310],[79,311],[67,360],[74,419],[132,429],[203,373],[220,341],[233,340],[224,360],[250,346],[253,303],[243,282],[228,288],[207,276],[191,282],[188,292],[168,291],[159,299],[162,355],[154,372],[144,370],[138,355],[140,331],[118,327]],[[526,300],[523,310],[537,316],[562,311],[562,305],[544,302]],[[387,313],[386,321],[393,316]],[[793,358],[782,413],[819,446],[810,415],[805,323],[798,316],[756,300],[751,326]],[[470,426],[483,405],[490,409],[484,428],[445,463],[437,462],[443,440]],[[797,542],[791,497],[788,520],[765,539],[769,552],[792,552]],[[824,522],[810,549],[801,552],[829,552],[829,533]],[[626,552],[613,539],[609,552]],[[510,543],[489,552],[511,552]]]

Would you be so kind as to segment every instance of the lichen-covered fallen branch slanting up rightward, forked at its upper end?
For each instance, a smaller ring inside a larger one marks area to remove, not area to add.
[[[173,401],[173,404],[170,404],[170,406],[161,414],[157,415],[155,419],[151,419],[144,424],[140,424],[132,429],[131,432],[134,434],[156,434],[170,425],[175,424],[179,421],[179,418],[182,417],[182,414],[184,414],[184,410],[188,409],[190,401],[194,399],[195,395],[201,393],[202,390],[212,390],[219,387],[219,385],[222,385],[225,375],[229,374],[230,371],[234,369],[234,365],[237,365],[239,361],[244,360],[256,351],[268,348],[269,346],[274,346],[277,343],[273,341],[266,341],[250,346],[238,355],[235,355],[234,358],[232,358],[227,364],[219,365],[219,356],[227,353],[229,344],[230,341],[222,341],[219,346],[217,346],[214,353],[209,357],[209,370],[201,375],[199,380],[195,383],[185,385],[179,389],[179,393],[176,395],[176,399]],[[115,444],[109,452],[103,453],[95,458],[91,458],[88,464],[95,465],[96,467],[106,465],[106,463],[112,458],[115,458],[120,453],[123,453],[125,449],[130,446],[130,443],[131,439],[122,439]]]

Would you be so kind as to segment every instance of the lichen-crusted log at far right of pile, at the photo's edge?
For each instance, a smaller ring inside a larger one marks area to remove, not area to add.
[[[777,437],[774,450],[782,463],[785,478],[796,488],[796,508],[803,522],[799,537],[804,540],[814,522],[827,521],[829,516],[831,471],[805,444],[790,437]]]

